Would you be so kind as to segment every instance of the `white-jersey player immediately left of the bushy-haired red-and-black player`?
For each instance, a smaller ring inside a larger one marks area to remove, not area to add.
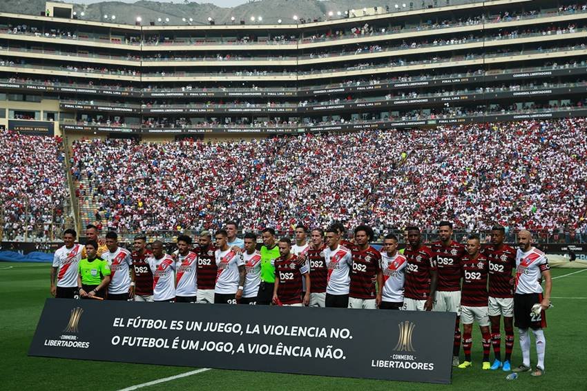
[[[340,234],[334,226],[326,230],[324,258],[328,268],[325,305],[327,307],[348,308],[351,285],[349,270],[353,264],[352,253],[351,250],[340,245]]]

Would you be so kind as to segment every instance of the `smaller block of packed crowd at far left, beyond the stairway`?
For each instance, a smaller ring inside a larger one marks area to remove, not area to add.
[[[68,195],[61,139],[0,131],[4,240],[59,237]]]

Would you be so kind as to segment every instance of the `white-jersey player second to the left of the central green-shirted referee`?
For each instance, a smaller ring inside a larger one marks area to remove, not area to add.
[[[242,253],[235,252],[227,243],[228,234],[225,230],[216,232],[215,259],[218,267],[214,288],[214,303],[236,304],[242,297],[244,279],[247,271],[244,268]]]

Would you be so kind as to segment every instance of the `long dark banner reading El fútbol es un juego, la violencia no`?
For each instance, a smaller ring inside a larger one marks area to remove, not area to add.
[[[29,355],[450,383],[454,313],[47,299]]]

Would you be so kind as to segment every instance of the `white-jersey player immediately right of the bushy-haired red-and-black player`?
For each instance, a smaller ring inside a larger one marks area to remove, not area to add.
[[[379,309],[400,310],[403,306],[403,283],[405,281],[403,270],[407,265],[407,260],[398,252],[398,238],[394,234],[385,236],[382,250],[383,285],[379,287],[379,294],[383,299],[379,304]]]

